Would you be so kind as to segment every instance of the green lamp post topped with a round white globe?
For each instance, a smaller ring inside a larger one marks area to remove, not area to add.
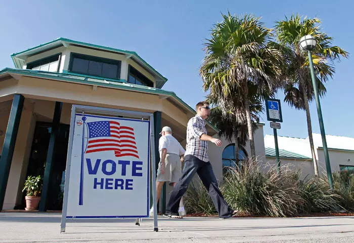
[[[318,114],[319,122],[320,122],[323,151],[325,153],[328,182],[331,187],[331,190],[333,190],[332,170],[331,170],[331,164],[330,164],[329,155],[328,155],[325,126],[323,125],[323,117],[322,117],[320,98],[319,98],[318,87],[317,87],[317,82],[316,82],[314,63],[312,61],[312,54],[311,54],[311,51],[316,47],[316,44],[317,44],[317,41],[316,41],[315,37],[312,35],[305,35],[305,36],[301,37],[300,42],[299,42],[299,46],[300,46],[301,50],[307,51],[307,55],[308,55],[308,63],[309,63],[309,68],[311,70],[312,85],[314,86],[317,114]],[[306,95],[306,94],[304,94],[304,95]]]

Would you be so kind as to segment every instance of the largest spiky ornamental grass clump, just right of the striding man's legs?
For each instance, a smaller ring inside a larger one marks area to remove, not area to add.
[[[285,217],[297,213],[302,204],[298,193],[298,171],[268,165],[264,172],[254,160],[245,160],[239,170],[230,168],[222,191],[234,209],[255,215]]]

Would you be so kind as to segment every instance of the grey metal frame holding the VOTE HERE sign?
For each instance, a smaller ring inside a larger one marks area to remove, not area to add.
[[[127,115],[129,117],[134,118],[146,118],[150,120],[150,144],[151,144],[151,151],[150,151],[150,161],[152,163],[152,170],[153,172],[156,171],[155,165],[155,143],[154,143],[154,116],[152,113],[146,112],[139,112],[139,111],[128,111],[128,110],[120,110],[120,109],[110,109],[110,108],[103,108],[103,107],[94,107],[94,106],[83,106],[83,105],[72,105],[71,108],[71,121],[70,121],[70,135],[69,135],[69,144],[68,144],[68,154],[66,160],[66,171],[65,171],[65,185],[64,185],[64,198],[63,198],[63,211],[62,211],[62,219],[61,219],[61,227],[60,232],[65,232],[66,227],[66,216],[67,216],[67,209],[68,209],[68,192],[69,192],[69,181],[70,181],[70,166],[71,166],[71,155],[72,155],[72,145],[73,145],[73,136],[74,136],[74,127],[75,127],[75,114],[76,113],[93,113],[93,114],[104,114],[104,115]],[[149,166],[150,167],[150,166]],[[156,174],[152,173],[153,182],[156,181]],[[153,196],[153,207],[154,207],[154,231],[158,231],[157,225],[157,199],[156,199],[156,187],[155,184],[152,183],[152,196]],[[149,185],[148,185],[149,186]],[[151,189],[151,188],[150,188]],[[136,219],[136,225],[140,225],[142,223],[142,218]]]

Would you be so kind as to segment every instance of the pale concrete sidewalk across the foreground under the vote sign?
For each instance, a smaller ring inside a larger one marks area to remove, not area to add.
[[[0,213],[0,242],[354,242],[354,217],[69,220],[61,214]]]

